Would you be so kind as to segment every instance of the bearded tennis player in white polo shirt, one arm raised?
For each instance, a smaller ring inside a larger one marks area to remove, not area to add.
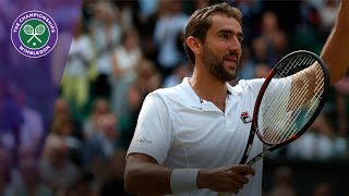
[[[127,155],[125,189],[137,195],[262,195],[263,161],[239,164],[264,79],[237,77],[241,57],[241,12],[227,3],[197,10],[185,28],[192,77],[158,89],[144,100]],[[349,61],[349,1],[342,0],[322,52],[332,83]],[[262,151],[254,139],[250,157]]]

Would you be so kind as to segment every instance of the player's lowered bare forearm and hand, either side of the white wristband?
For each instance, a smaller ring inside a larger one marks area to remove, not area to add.
[[[127,158],[124,172],[125,189],[136,195],[171,194],[171,172],[172,169],[159,166],[147,155],[131,154]],[[254,169],[245,164],[201,169],[196,186],[216,192],[238,193],[249,182],[246,175],[254,175]]]

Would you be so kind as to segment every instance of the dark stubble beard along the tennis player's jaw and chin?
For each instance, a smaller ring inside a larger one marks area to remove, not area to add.
[[[221,82],[230,82],[237,78],[238,66],[233,72],[227,70],[224,65],[222,58],[217,56],[206,46],[204,46],[203,64],[209,71],[210,74],[213,74]]]

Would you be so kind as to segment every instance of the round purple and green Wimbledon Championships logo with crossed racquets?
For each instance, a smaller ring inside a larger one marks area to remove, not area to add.
[[[24,12],[12,24],[12,44],[20,53],[28,58],[48,54],[55,48],[57,38],[55,21],[41,11]]]

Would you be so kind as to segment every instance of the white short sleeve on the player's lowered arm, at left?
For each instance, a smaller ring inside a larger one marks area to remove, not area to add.
[[[169,110],[158,93],[149,94],[142,106],[128,154],[148,155],[161,164],[172,138]]]

